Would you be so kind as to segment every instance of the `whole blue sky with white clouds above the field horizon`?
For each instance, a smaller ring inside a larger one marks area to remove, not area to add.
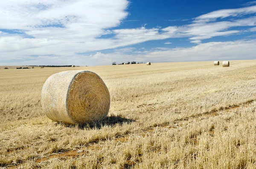
[[[256,1],[9,0],[0,65],[256,59]]]

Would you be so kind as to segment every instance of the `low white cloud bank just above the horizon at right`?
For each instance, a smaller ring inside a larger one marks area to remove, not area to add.
[[[255,59],[256,41],[209,42],[191,48],[174,48],[145,55],[152,62]]]

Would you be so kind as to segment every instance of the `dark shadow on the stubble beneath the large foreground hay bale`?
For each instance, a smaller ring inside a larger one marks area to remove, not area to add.
[[[124,123],[132,123],[135,122],[135,120],[133,119],[129,119],[129,118],[122,118],[121,116],[115,116],[115,115],[111,115],[108,116],[102,120],[99,121],[94,121],[91,123],[85,123],[85,124],[65,124],[65,123],[61,123],[61,122],[57,122],[57,124],[62,124],[65,127],[76,127],[78,126],[79,129],[84,129],[84,128],[89,128],[89,129],[101,129],[104,126],[114,126],[116,124],[119,124],[122,126],[122,124]]]

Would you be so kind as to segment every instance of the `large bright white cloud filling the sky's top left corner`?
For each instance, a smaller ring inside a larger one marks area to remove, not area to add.
[[[127,16],[126,0],[8,0],[1,2],[0,28],[31,30],[45,25],[110,28]]]

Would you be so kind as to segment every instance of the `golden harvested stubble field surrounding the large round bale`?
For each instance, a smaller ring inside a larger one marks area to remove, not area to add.
[[[64,70],[101,76],[105,120],[72,126],[42,113],[44,82]],[[256,168],[256,60],[1,68],[0,167]]]

